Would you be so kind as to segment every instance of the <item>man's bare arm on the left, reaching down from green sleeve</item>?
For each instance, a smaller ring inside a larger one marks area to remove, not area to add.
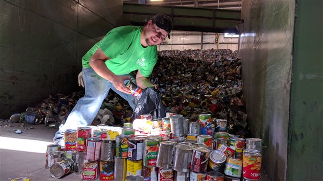
[[[131,80],[131,78],[129,76],[116,76],[113,74],[105,64],[105,61],[107,60],[109,60],[109,58],[102,52],[100,48],[98,48],[90,59],[90,66],[98,75],[110,81],[117,90],[126,94],[131,94],[131,91],[124,84],[126,79]]]

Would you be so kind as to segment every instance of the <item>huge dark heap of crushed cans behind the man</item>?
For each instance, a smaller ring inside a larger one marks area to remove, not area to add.
[[[166,112],[196,120],[199,114],[228,120],[229,133],[245,137],[245,104],[242,94],[241,60],[229,49],[159,51],[150,78],[159,84]],[[83,91],[55,94],[26,112],[14,114],[11,122],[42,124],[57,128],[64,124]],[[122,125],[133,110],[128,102],[110,91],[93,124]]]

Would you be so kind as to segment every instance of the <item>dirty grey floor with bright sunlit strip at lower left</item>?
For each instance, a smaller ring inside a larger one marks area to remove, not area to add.
[[[0,125],[8,125],[8,122]],[[31,127],[33,129],[28,129]],[[14,133],[16,129],[22,129],[22,133]],[[56,131],[44,124],[26,124],[22,128],[21,123],[14,123],[12,127],[0,127],[0,181],[18,177],[27,177],[30,181],[57,180],[45,169],[46,146],[52,144]],[[81,176],[70,173],[60,180],[81,180]],[[261,180],[270,181],[265,169],[262,169]]]

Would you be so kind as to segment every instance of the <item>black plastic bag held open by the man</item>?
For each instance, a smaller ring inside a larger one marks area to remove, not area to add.
[[[153,87],[146,88],[140,97],[135,101],[135,110],[130,118],[132,123],[140,119],[140,115],[152,115],[152,119],[166,117],[166,110],[161,101],[160,92]]]

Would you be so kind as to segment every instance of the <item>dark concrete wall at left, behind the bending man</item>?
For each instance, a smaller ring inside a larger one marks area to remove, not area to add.
[[[78,89],[81,57],[120,26],[118,0],[0,0],[0,119]]]

